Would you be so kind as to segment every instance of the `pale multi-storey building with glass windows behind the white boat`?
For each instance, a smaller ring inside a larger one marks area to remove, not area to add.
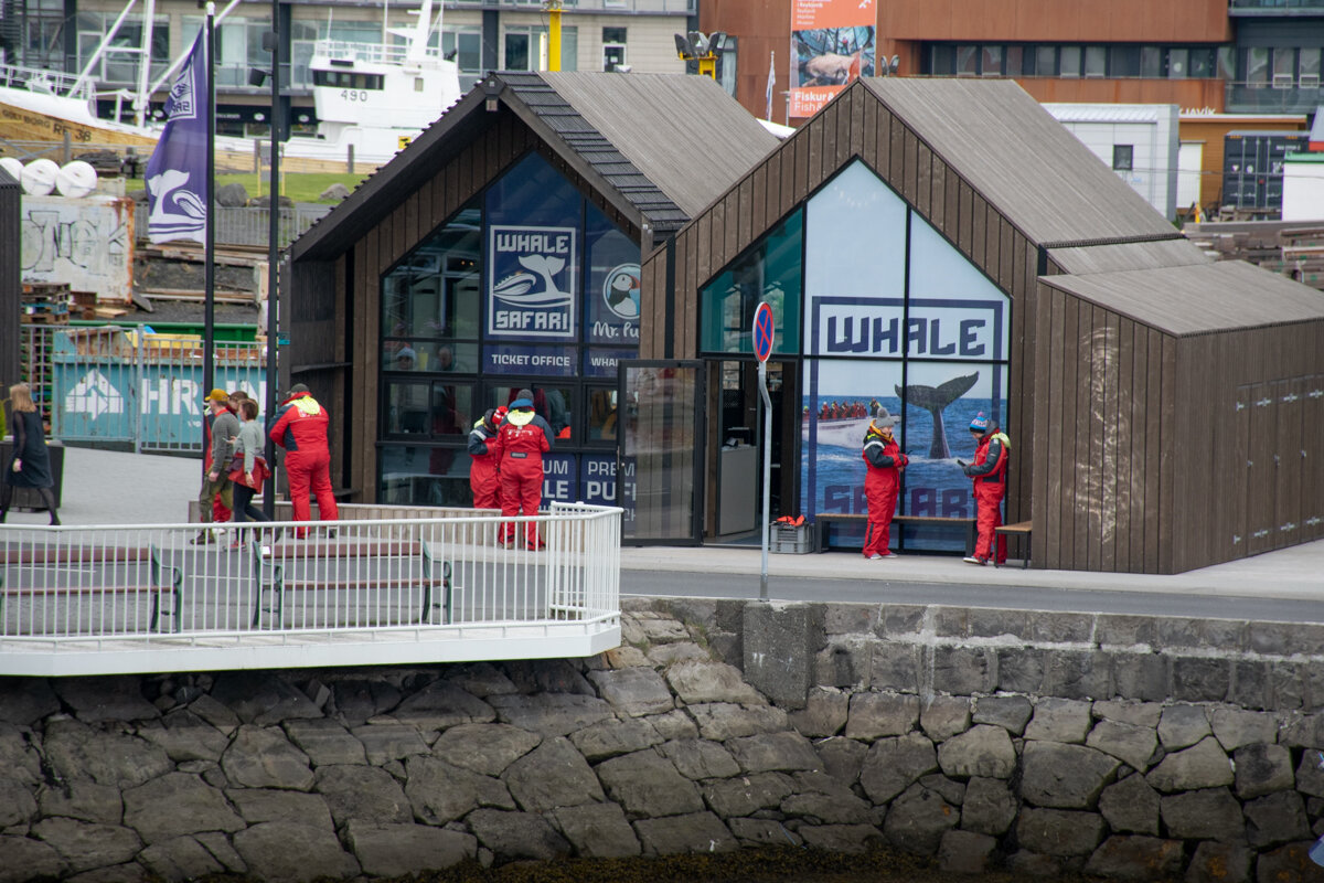
[[[89,70],[101,95],[102,115],[114,113],[114,91],[135,90],[146,21],[143,8],[127,11],[126,0],[5,0],[0,4],[0,49],[4,62],[40,70],[78,74]],[[226,4],[217,3],[217,12]],[[418,4],[282,0],[282,58],[289,70],[290,111],[295,131],[316,126],[312,74],[314,44],[334,40],[404,45],[401,32],[413,25]],[[437,4],[440,7],[442,4]],[[683,33],[695,15],[692,0],[567,0],[561,29],[561,70],[682,73],[673,34]],[[151,21],[151,81],[187,52],[204,13],[193,0],[156,0]],[[119,21],[110,45],[97,49]],[[270,86],[250,85],[253,69],[270,68],[262,34],[271,29],[270,3],[245,3],[217,25],[217,131],[225,135],[263,134],[269,126]],[[461,89],[470,89],[489,70],[544,70],[548,23],[540,4],[522,0],[450,0],[434,45],[454,53]],[[159,110],[167,82],[152,98]],[[123,107],[127,113],[128,103]],[[445,109],[438,109],[438,115]]]

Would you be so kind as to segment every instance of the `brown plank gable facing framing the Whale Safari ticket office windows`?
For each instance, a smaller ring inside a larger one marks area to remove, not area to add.
[[[351,361],[350,396],[354,400],[354,420],[332,418],[334,434],[343,434],[350,445],[350,485],[356,502],[375,503],[377,499],[377,401],[379,389],[379,336],[381,319],[381,274],[391,269],[424,238],[432,234],[475,193],[487,187],[515,160],[530,150],[539,154],[564,175],[580,192],[585,193],[613,222],[638,241],[637,225],[625,218],[608,201],[593,192],[569,164],[542,142],[524,123],[502,107],[500,119],[437,168],[429,180],[387,214],[379,224],[364,230],[350,253],[336,262],[335,286],[338,298],[342,289],[347,308],[342,315],[340,336],[344,357]]]

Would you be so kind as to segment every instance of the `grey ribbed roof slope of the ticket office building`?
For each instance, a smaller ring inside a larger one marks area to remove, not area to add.
[[[707,77],[539,77],[691,217],[781,143]]]

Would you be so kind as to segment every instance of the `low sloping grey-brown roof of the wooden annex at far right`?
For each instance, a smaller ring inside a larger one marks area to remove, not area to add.
[[[1176,336],[1324,319],[1324,293],[1245,261],[1039,281]]]

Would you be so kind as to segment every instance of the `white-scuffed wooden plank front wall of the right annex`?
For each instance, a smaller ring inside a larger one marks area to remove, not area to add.
[[[1038,298],[1035,565],[1172,573],[1177,342],[1046,285]]]

